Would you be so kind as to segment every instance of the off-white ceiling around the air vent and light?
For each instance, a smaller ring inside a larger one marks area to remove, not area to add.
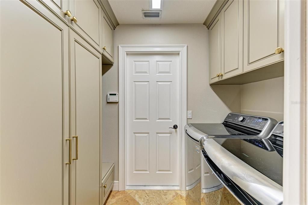
[[[120,24],[203,23],[216,0],[164,0],[161,19],[143,19],[150,0],[109,0]]]

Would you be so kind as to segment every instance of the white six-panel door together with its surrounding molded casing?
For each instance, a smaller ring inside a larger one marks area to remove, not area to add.
[[[119,190],[184,189],[186,45],[120,45],[119,107]]]

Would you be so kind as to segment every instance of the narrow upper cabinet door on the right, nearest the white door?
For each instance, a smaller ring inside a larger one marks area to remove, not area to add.
[[[209,28],[209,82],[220,80],[221,72],[221,14],[218,14],[215,21]]]

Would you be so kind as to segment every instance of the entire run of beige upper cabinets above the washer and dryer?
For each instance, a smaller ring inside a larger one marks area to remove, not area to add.
[[[216,12],[209,14],[215,18],[205,20],[209,26],[210,84],[248,83],[244,73],[261,67],[264,69],[253,72],[263,77],[250,78],[251,82],[283,76],[283,64],[267,67],[284,59],[282,0],[226,0],[211,12]]]

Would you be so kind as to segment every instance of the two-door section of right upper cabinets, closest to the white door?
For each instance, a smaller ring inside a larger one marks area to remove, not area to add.
[[[209,28],[209,82],[243,72],[243,0],[229,0]]]

